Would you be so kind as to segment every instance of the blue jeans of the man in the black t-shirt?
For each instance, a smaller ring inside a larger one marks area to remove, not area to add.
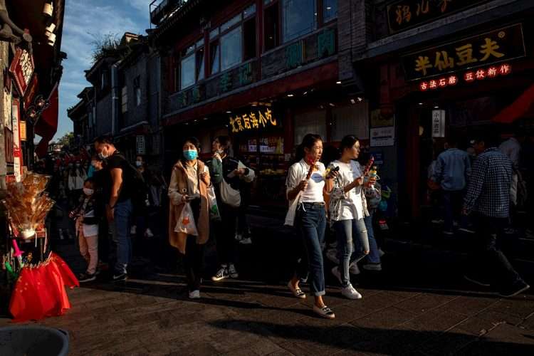
[[[127,199],[115,204],[114,216],[110,230],[117,251],[115,273],[127,273],[126,268],[132,258],[132,239],[130,239],[132,201]]]

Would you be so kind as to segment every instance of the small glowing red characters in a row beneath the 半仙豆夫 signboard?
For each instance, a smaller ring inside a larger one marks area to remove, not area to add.
[[[508,63],[491,66],[489,68],[478,68],[476,70],[468,70],[463,75],[448,75],[444,78],[436,78],[431,80],[424,80],[419,83],[421,91],[433,90],[437,88],[445,88],[453,86],[459,82],[472,83],[475,80],[484,80],[486,78],[495,78],[498,75],[508,75],[512,71],[512,66]]]

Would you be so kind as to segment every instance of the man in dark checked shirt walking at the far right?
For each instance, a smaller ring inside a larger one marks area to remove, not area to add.
[[[493,135],[478,137],[474,142],[478,157],[462,214],[473,217],[475,249],[464,277],[481,286],[495,286],[501,296],[511,297],[530,288],[499,248],[510,216],[512,162],[497,148]]]

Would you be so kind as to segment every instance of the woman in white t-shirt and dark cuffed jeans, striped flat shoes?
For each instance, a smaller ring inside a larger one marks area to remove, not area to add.
[[[298,199],[298,209],[294,225],[303,241],[302,256],[298,262],[295,276],[288,287],[297,298],[305,298],[298,287],[310,274],[310,289],[315,296],[313,311],[323,318],[333,319],[335,314],[323,302],[325,295],[325,272],[321,244],[325,239],[326,211],[323,194],[333,188],[336,172],[325,175],[325,165],[319,162],[323,154],[323,141],[319,135],[305,135],[299,147],[299,162],[289,168],[286,180],[289,201]]]

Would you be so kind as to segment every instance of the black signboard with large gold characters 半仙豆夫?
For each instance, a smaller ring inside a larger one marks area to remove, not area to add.
[[[454,73],[525,56],[520,23],[407,56],[401,62],[407,80]]]

